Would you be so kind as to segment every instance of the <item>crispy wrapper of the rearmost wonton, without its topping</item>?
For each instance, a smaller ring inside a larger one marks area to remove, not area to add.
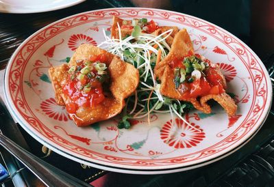
[[[122,25],[132,26],[132,20],[123,20],[119,17],[113,16],[111,38],[115,38],[115,39],[120,38],[118,24],[119,24],[120,28]],[[171,35],[169,35],[168,38],[166,38],[166,43],[169,44],[169,46],[171,46],[176,33],[179,31],[178,27],[160,26],[159,29],[155,30],[151,34],[160,35],[161,33],[168,31],[169,29],[173,29],[173,32],[171,33]],[[121,38],[125,38],[127,35],[132,35],[132,31],[133,31],[133,28],[131,28],[131,27],[121,28]],[[166,34],[163,35],[163,38],[165,36],[166,36]]]

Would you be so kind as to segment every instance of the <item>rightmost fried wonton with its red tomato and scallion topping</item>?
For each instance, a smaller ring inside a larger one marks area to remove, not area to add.
[[[191,102],[203,113],[211,113],[207,102],[213,99],[229,116],[235,115],[237,106],[225,93],[227,85],[219,66],[194,53],[186,29],[175,35],[171,51],[156,64],[154,72],[161,81],[163,96]]]

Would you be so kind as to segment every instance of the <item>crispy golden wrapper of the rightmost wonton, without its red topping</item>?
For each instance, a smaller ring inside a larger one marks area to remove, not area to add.
[[[235,115],[237,106],[234,100],[230,96],[228,96],[227,93],[221,93],[218,95],[210,94],[208,96],[201,97],[198,101],[197,98],[184,98],[183,92],[179,91],[179,89],[175,89],[175,83],[173,82],[174,73],[173,69],[170,66],[170,63],[173,59],[182,59],[189,53],[194,54],[192,42],[186,29],[182,29],[177,33],[177,35],[175,35],[169,55],[167,55],[165,59],[160,61],[160,63],[156,64],[154,68],[155,76],[158,78],[158,80],[161,81],[160,93],[169,98],[175,98],[177,100],[191,102],[195,109],[198,109],[203,113],[211,113],[211,108],[206,102],[213,99],[221,104],[221,106],[223,107],[223,109],[225,109],[229,116]],[[216,64],[213,64],[212,66],[214,66],[214,69],[222,76],[223,81],[221,84],[225,89],[225,77],[223,76],[223,74],[221,74],[219,66],[217,66]],[[207,74],[207,72],[205,73]]]

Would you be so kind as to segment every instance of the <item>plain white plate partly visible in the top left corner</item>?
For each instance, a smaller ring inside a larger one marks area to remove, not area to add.
[[[36,13],[67,8],[85,0],[0,0],[0,12]]]

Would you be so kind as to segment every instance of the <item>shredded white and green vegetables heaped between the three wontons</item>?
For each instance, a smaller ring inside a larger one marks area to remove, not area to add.
[[[147,20],[140,20],[141,23]],[[127,119],[139,119],[147,117],[150,113],[170,113],[173,118],[173,113],[191,126],[186,119],[182,117],[186,111],[193,108],[191,103],[175,100],[162,96],[160,93],[160,82],[154,78],[153,69],[157,59],[158,50],[162,53],[161,60],[171,50],[170,46],[166,44],[166,38],[171,35],[173,29],[163,32],[155,36],[148,33],[143,33],[140,26],[136,25],[132,35],[127,38],[121,37],[121,29],[119,28],[119,39],[109,38],[105,35],[105,41],[99,44],[99,47],[106,51],[118,55],[122,60],[131,63],[138,69],[140,74],[140,83],[133,96],[126,100],[126,105],[123,113],[123,119],[119,122],[119,128],[129,128],[130,123]],[[132,42],[134,40],[134,42]],[[153,46],[156,46],[154,48]],[[191,66],[188,62],[189,68]],[[177,86],[184,80],[182,75],[186,74],[184,71],[177,72]],[[180,80],[181,79],[181,80]],[[152,93],[151,93],[152,92]],[[174,120],[173,120],[174,121]],[[192,128],[195,128],[192,126]],[[195,128],[197,130],[197,128]]]

